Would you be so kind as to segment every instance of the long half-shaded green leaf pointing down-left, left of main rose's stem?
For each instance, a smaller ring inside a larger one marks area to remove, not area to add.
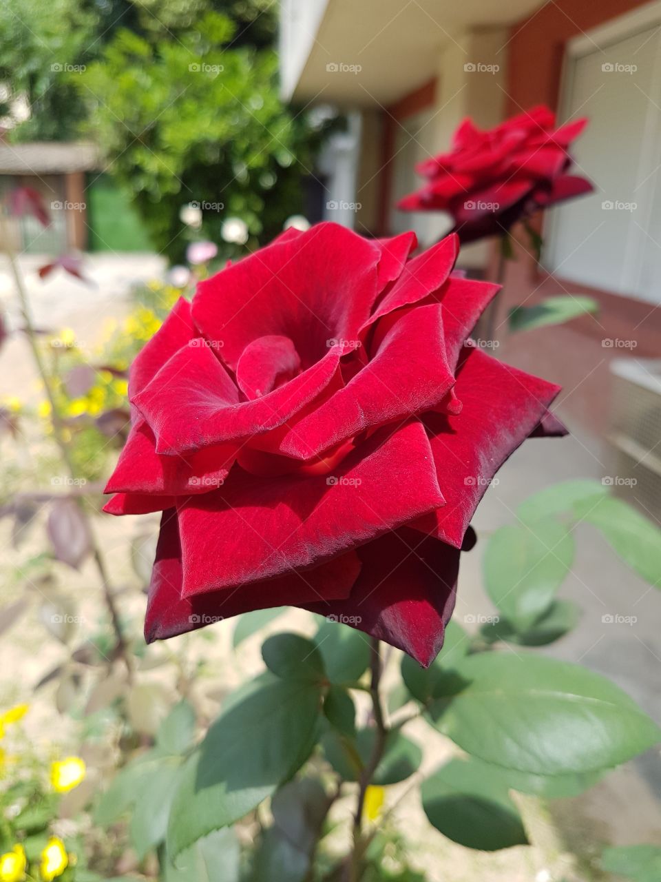
[[[167,831],[172,856],[256,808],[312,750],[321,705],[315,684],[266,678],[241,695],[182,767]]]

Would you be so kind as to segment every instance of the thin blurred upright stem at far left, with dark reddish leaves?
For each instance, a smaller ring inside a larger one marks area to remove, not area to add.
[[[26,287],[19,269],[19,263],[11,248],[8,247],[6,249],[6,254],[11,264],[11,272],[13,273],[16,290],[19,295],[20,310],[25,325],[24,332],[26,334],[30,349],[32,350],[34,363],[36,364],[37,371],[39,373],[39,376],[41,377],[41,382],[44,385],[46,397],[48,398],[48,403],[50,404],[51,422],[53,424],[53,436],[56,439],[56,445],[60,450],[64,465],[66,466],[71,478],[75,480],[77,475],[73,466],[73,460],[71,460],[69,445],[67,443],[66,437],[64,437],[63,419],[58,410],[55,393],[53,392],[52,386],[50,385],[50,377],[48,377],[48,371],[46,370],[46,367],[43,363],[43,358],[41,357],[39,343],[37,342],[36,333],[34,332],[34,325],[32,321],[30,305],[27,299]],[[122,632],[119,614],[115,606],[115,598],[113,597],[113,592],[110,587],[106,564],[103,560],[103,556],[101,555],[99,544],[94,536],[92,523],[87,515],[87,512],[85,512],[83,501],[80,498],[77,498],[76,501],[78,503],[78,506],[80,507],[80,511],[83,517],[85,518],[85,522],[88,528],[90,547],[92,549],[94,563],[96,564],[96,568],[99,571],[101,587],[103,589],[103,599],[106,603],[106,606],[108,607],[108,614],[110,616],[110,621],[113,626],[113,631],[115,632],[116,650],[118,654],[122,657],[123,662],[126,665],[126,669],[129,672],[129,677],[131,677],[133,674],[133,665],[131,663],[130,653],[126,645],[126,640],[124,639],[124,635]]]

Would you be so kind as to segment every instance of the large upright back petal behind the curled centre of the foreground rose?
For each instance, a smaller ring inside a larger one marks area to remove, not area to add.
[[[289,337],[304,368],[332,338],[355,340],[377,294],[381,249],[335,223],[256,251],[201,282],[193,318],[207,340],[222,342],[232,369],[259,337]]]

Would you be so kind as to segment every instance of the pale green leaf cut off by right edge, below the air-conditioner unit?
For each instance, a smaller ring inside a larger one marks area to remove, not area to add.
[[[584,500],[576,516],[597,527],[613,551],[650,585],[661,587],[661,530],[621,499]]]

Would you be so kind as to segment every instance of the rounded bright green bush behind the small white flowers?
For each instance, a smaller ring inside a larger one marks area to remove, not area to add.
[[[216,11],[176,35],[123,29],[77,80],[112,174],[173,260],[187,244],[180,211],[189,203],[215,242],[227,217],[245,221],[254,244],[302,211],[301,176],[320,132],[280,101],[275,53],[234,44],[235,34]]]

